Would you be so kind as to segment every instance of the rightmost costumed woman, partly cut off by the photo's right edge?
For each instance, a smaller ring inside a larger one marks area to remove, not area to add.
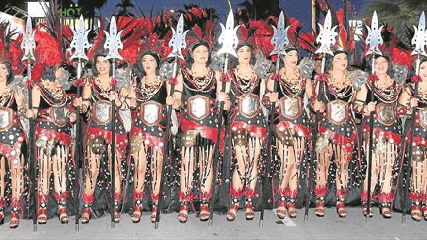
[[[427,220],[427,58],[420,61],[419,76],[412,78],[418,81],[418,97],[414,97],[414,83],[407,83],[403,87],[399,98],[401,112],[408,116],[404,131],[404,152],[406,156],[412,151],[411,176],[409,179],[409,198],[411,199],[411,217],[420,221],[421,217]],[[415,124],[413,129],[413,142],[411,140],[411,114],[415,108]],[[408,184],[408,180],[406,181]],[[407,194],[404,192],[404,194]]]

